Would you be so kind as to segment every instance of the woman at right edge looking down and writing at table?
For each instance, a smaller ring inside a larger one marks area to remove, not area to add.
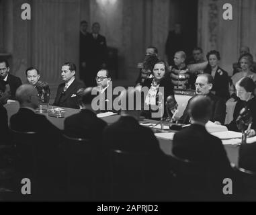
[[[239,97],[239,101],[237,101],[236,107],[234,107],[234,119],[230,124],[228,124],[228,130],[233,130],[236,132],[241,132],[241,130],[237,126],[237,118],[241,110],[246,107],[251,116],[253,117],[253,124],[251,125],[251,130],[248,132],[248,136],[255,136],[256,130],[256,97],[254,95],[255,83],[253,79],[249,77],[245,77],[241,79],[236,84],[237,96]]]

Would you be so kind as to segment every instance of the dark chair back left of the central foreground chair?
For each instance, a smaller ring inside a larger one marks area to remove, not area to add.
[[[91,201],[97,196],[97,150],[94,142],[64,136],[69,200]]]

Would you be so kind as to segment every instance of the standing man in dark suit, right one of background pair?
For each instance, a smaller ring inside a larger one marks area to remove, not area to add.
[[[99,34],[100,25],[94,23],[92,33],[89,34],[88,70],[85,75],[85,85],[95,86],[95,77],[100,69],[105,69],[107,60],[107,42],[105,37]]]

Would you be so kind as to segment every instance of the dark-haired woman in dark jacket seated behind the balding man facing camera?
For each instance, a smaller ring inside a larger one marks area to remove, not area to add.
[[[220,52],[211,50],[206,55],[206,58],[208,60],[208,66],[204,70],[204,73],[208,73],[214,78],[214,87],[212,88],[212,91],[215,91],[215,95],[226,101],[229,99],[228,73],[218,66]]]

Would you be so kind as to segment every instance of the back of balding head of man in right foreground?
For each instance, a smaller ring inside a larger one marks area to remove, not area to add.
[[[212,101],[206,95],[196,95],[189,101],[192,120],[206,124],[212,116]]]

